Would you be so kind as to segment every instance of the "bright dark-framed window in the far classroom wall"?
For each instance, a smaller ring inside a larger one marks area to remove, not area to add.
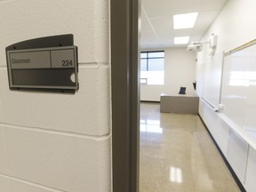
[[[164,84],[164,52],[140,53],[140,84]]]

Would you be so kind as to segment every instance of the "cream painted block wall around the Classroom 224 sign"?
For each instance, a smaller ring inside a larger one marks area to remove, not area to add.
[[[109,1],[0,1],[0,26],[0,191],[111,191]],[[6,46],[69,33],[78,92],[9,90]]]

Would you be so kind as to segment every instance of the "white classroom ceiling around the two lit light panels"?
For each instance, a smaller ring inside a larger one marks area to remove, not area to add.
[[[228,0],[142,0],[142,50],[184,47],[200,41]],[[174,14],[199,12],[194,28],[173,29]],[[174,36],[190,36],[188,44],[173,44]]]

